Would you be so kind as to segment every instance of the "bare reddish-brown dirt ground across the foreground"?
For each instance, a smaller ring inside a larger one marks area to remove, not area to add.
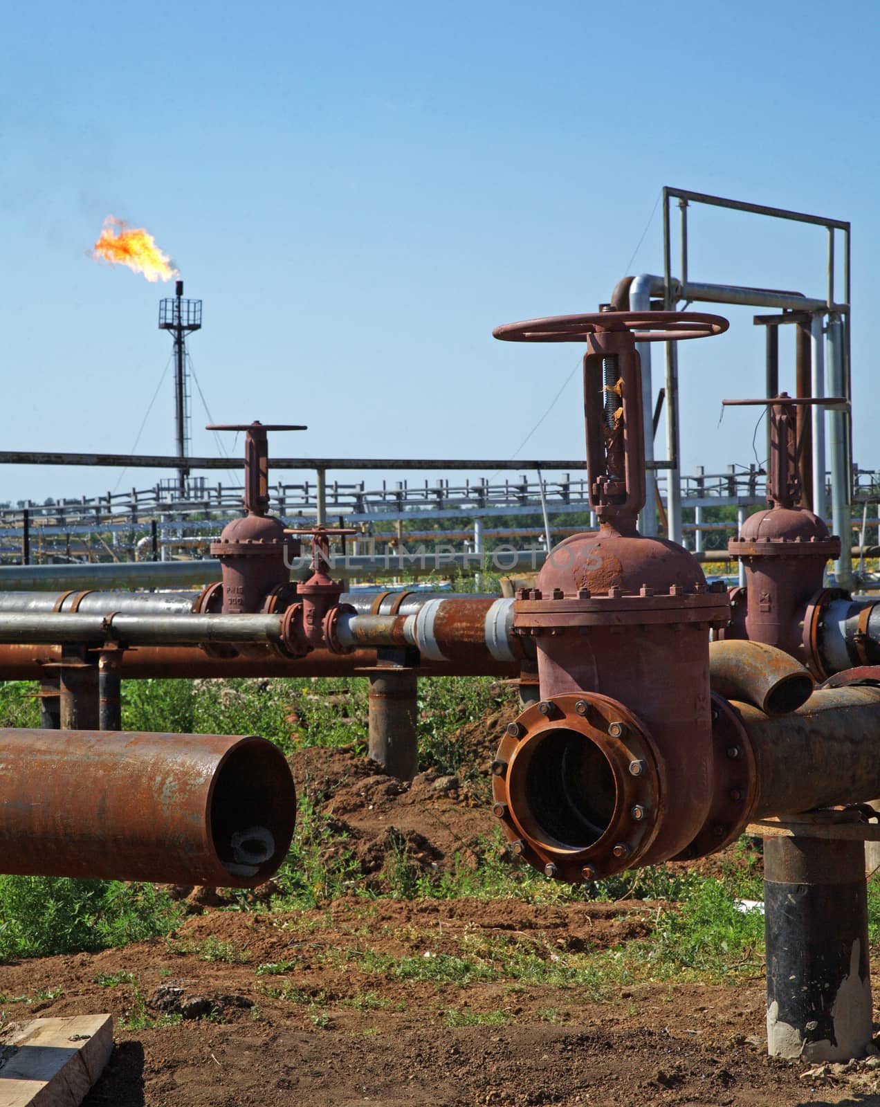
[[[507,718],[500,710],[460,741]],[[294,770],[350,835],[366,884],[381,886],[402,838],[425,869],[479,852],[487,814],[462,782],[426,774],[405,789],[349,751],[303,751]],[[353,894],[300,912],[196,906],[167,939],[0,966],[2,1012],[13,1024],[114,1015],[116,1049],[86,1107],[880,1105],[880,1069],[805,1075],[766,1057],[757,973],[735,987],[638,984],[597,1000],[579,985],[390,969],[441,963],[468,943],[500,964],[609,950],[644,938],[658,909]]]

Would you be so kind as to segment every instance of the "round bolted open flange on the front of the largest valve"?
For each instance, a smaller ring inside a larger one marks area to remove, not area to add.
[[[653,744],[622,704],[583,693],[531,706],[493,765],[493,811],[516,853],[582,883],[632,868],[659,828]]]

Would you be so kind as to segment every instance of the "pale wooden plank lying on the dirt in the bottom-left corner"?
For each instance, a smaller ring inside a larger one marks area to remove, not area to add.
[[[112,1015],[34,1018],[2,1047],[0,1107],[79,1107],[112,1053]]]

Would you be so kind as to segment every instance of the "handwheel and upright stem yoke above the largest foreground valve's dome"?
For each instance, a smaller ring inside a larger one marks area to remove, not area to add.
[[[721,315],[684,311],[601,311],[496,327],[507,342],[586,342],[583,406],[590,506],[600,521],[634,520],[644,507],[642,379],[636,342],[722,334]]]

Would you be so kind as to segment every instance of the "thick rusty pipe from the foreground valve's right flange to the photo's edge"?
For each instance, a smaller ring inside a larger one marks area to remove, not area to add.
[[[796,712],[776,717],[750,704],[734,707],[755,756],[749,818],[880,796],[880,689],[819,689]]]

